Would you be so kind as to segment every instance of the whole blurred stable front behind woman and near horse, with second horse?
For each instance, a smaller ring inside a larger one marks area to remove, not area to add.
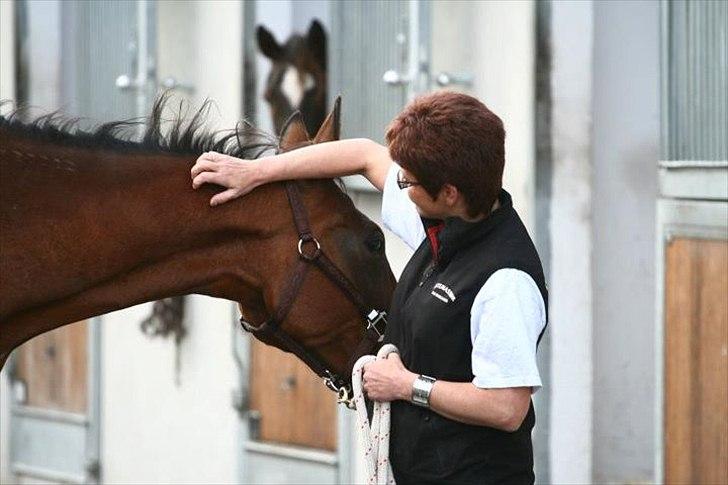
[[[211,128],[276,132],[341,94],[343,137],[383,142],[419,93],[477,96],[550,291],[537,481],[726,483],[727,30],[728,3],[701,0],[0,0],[0,99],[91,126],[171,90],[214,100]],[[364,481],[353,413],[232,303],[161,305],[14,352],[2,483]]]

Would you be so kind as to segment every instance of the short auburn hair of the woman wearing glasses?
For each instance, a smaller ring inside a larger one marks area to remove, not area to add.
[[[490,213],[501,190],[505,136],[501,119],[474,97],[436,91],[408,104],[386,139],[392,159],[433,199],[451,184],[476,217]]]

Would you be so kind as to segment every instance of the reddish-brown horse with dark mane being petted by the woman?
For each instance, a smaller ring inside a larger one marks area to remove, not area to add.
[[[129,122],[89,134],[54,115],[32,124],[0,117],[0,368],[36,335],[142,302],[210,295],[238,302],[254,323],[287,304],[302,256],[285,184],[213,209],[208,201],[220,188],[193,190],[190,168],[208,150],[250,159],[269,148],[336,139],[340,104],[313,142],[300,115],[280,140],[263,142],[240,127],[224,136],[206,133],[204,107],[163,136],[163,99],[142,142],[124,135],[135,128]],[[386,309],[395,280],[381,230],[333,180],[296,187],[298,210],[323,253],[368,305]],[[313,245],[304,246],[310,256]],[[299,279],[281,328],[346,375],[365,323],[325,271],[314,268]]]

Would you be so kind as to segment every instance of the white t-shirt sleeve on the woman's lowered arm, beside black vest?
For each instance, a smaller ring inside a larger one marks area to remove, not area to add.
[[[527,273],[504,268],[480,289],[470,311],[473,384],[541,387],[536,343],[546,325],[541,292]]]

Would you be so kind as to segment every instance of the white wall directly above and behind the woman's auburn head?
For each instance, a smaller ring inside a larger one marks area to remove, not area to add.
[[[477,97],[503,120],[503,185],[533,235],[534,2],[440,0],[430,5],[431,72],[472,75],[472,86],[447,89]]]

